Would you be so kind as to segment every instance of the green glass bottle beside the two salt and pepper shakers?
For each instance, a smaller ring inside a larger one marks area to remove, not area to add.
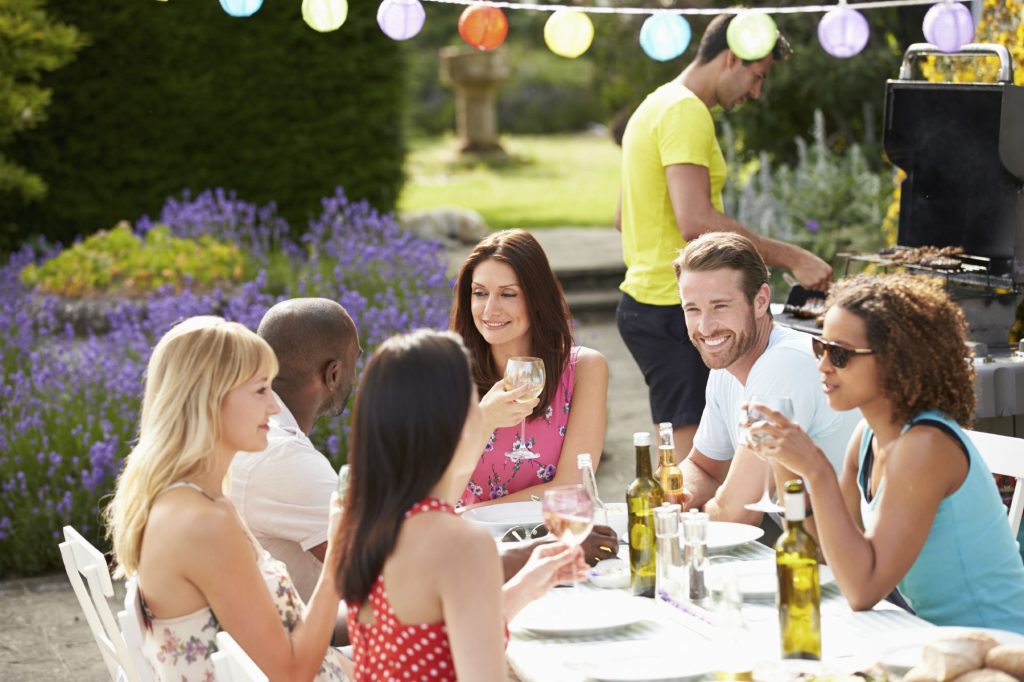
[[[637,477],[626,491],[630,536],[630,587],[641,597],[654,596],[657,576],[655,561],[654,509],[665,502],[662,486],[651,475],[650,433],[633,434],[636,447]]]

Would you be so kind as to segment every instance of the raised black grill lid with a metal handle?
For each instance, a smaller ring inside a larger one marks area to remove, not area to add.
[[[966,45],[996,55],[1005,82],[929,83],[909,79],[909,60],[942,54],[911,45],[900,79],[886,84],[883,144],[906,172],[897,243],[958,246],[991,259],[991,273],[1024,281],[1024,88],[1012,85],[1001,45]]]

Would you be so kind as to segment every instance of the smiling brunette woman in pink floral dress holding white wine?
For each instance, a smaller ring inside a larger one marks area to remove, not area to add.
[[[496,232],[476,245],[459,270],[451,328],[473,355],[487,434],[462,506],[529,500],[548,486],[578,482],[580,453],[590,453],[597,467],[608,364],[596,350],[573,345],[565,296],[529,232]],[[541,396],[524,403],[516,401],[524,387],[502,385],[505,364],[519,355],[543,359],[547,377]],[[520,433],[536,459],[506,456]]]

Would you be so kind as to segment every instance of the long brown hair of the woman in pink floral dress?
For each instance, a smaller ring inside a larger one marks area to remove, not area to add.
[[[529,315],[530,354],[544,360],[544,392],[534,416],[543,415],[558,390],[558,378],[572,350],[572,332],[569,330],[569,306],[565,302],[562,286],[548,264],[544,249],[529,232],[506,229],[495,232],[476,245],[463,261],[456,281],[455,303],[449,329],[457,332],[466,342],[473,356],[473,380],[483,395],[502,378],[505,368],[495,365],[488,344],[473,323],[472,290],[473,271],[485,260],[494,259],[515,270],[526,301]]]

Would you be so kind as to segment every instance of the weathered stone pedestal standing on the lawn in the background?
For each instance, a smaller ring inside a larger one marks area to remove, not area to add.
[[[441,48],[440,57],[441,82],[455,90],[459,151],[504,155],[495,108],[495,90],[509,76],[504,53],[451,46]]]

